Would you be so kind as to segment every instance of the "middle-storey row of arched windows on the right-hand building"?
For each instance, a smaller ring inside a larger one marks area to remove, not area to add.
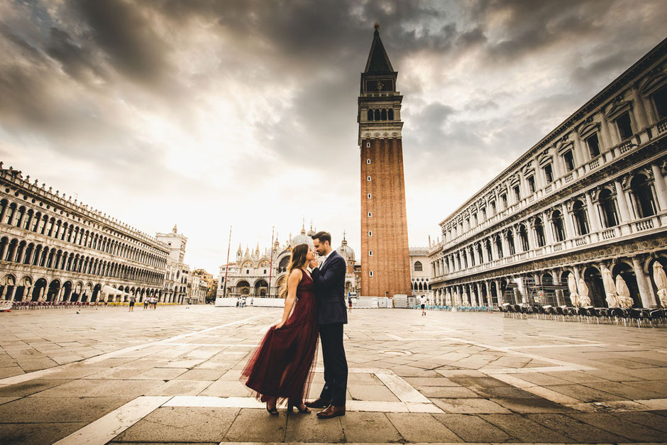
[[[646,175],[634,175],[630,182],[631,201],[634,205],[634,211],[638,219],[654,216],[657,212],[656,200],[651,189],[649,178]],[[595,215],[588,214],[588,207],[581,199],[576,199],[571,206],[571,216],[573,222],[573,236],[584,236],[590,233],[590,217]],[[600,221],[604,229],[609,229],[619,225],[619,211],[617,199],[610,188],[603,188],[598,194],[597,209],[600,215]],[[551,212],[551,234],[555,242],[565,241],[568,234],[566,224],[561,210]],[[434,270],[434,273],[448,273],[448,271],[463,270],[473,267],[476,263],[487,263],[492,260],[503,258],[506,253],[510,256],[516,254],[517,247],[521,251],[529,251],[531,244],[533,247],[544,247],[546,245],[545,226],[540,217],[534,219],[532,224],[532,235],[534,241],[530,240],[527,224],[519,225],[517,234],[512,229],[507,229],[502,233],[493,234],[484,241],[468,246],[456,253],[448,255],[443,265],[446,270]],[[435,265],[434,265],[435,268]]]

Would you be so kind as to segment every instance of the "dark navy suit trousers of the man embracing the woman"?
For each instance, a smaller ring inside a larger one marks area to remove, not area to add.
[[[331,400],[331,405],[334,407],[343,407],[348,388],[348,361],[343,347],[343,324],[321,324],[319,338],[322,341],[324,361],[324,388],[319,397]]]

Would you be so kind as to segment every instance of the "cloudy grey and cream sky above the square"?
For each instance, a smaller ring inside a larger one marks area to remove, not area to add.
[[[305,218],[360,246],[373,23],[404,94],[409,240],[666,37],[663,0],[0,0],[0,160],[218,272]]]

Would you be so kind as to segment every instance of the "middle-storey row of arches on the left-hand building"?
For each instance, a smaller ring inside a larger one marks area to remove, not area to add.
[[[109,278],[136,280],[160,284],[164,274],[152,270],[134,268],[121,263],[102,261],[98,258],[79,255],[42,246],[41,244],[18,241],[17,238],[9,241],[4,236],[0,239],[0,260],[23,265],[33,265],[43,268],[65,270],[67,272],[86,273]]]

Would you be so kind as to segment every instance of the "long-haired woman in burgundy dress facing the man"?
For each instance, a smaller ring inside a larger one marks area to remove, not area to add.
[[[280,291],[285,298],[282,321],[269,328],[241,373],[270,414],[278,414],[276,405],[285,398],[289,412],[292,407],[310,412],[303,398],[310,388],[318,341],[314,283],[306,269],[313,259],[308,244],[292,250],[286,284]]]

